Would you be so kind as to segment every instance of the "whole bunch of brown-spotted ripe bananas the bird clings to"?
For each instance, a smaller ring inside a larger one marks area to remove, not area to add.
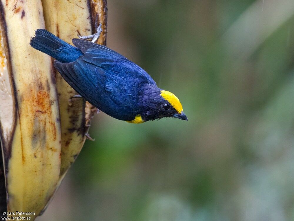
[[[102,23],[98,43],[105,45],[106,15],[106,0],[0,0],[0,210],[10,217],[21,211],[34,220],[44,211],[97,111],[71,99],[76,92],[48,55],[30,47],[30,37],[46,27],[71,43]]]

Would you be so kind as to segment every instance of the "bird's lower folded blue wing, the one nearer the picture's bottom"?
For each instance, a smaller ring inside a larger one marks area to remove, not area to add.
[[[136,115],[138,89],[126,78],[107,73],[84,61],[83,56],[71,63],[54,61],[54,66],[73,89],[101,111],[121,120],[132,120]]]

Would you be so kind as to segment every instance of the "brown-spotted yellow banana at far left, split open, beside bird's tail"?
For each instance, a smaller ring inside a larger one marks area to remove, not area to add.
[[[34,219],[60,174],[61,127],[49,56],[29,45],[45,28],[42,3],[1,0],[0,121],[7,214]]]

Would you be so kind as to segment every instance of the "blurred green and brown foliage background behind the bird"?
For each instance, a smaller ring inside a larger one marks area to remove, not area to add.
[[[189,121],[104,113],[38,220],[294,220],[292,0],[108,0],[108,47]]]

